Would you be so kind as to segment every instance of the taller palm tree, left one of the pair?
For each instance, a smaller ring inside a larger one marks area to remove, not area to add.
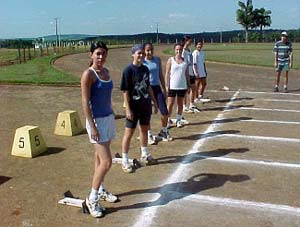
[[[253,4],[252,0],[247,0],[247,3],[239,1],[240,9],[236,11],[236,20],[245,29],[246,43],[248,43],[248,31],[253,25]]]

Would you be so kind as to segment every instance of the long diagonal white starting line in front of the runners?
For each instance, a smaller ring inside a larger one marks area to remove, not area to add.
[[[232,105],[232,103],[234,102],[234,100],[237,98],[237,96],[239,95],[239,91],[235,92],[234,95],[231,97],[230,102],[227,103],[225,110],[227,108],[229,108],[229,106]],[[223,112],[220,112],[217,117],[214,119],[213,123],[205,130],[205,132],[203,133],[203,135],[205,136],[205,134],[214,132],[215,129],[217,127],[220,126],[219,123],[215,123],[218,122],[220,119],[223,119]],[[192,154],[195,152],[198,152],[199,148],[206,142],[206,138],[200,138],[198,139],[192,149],[190,149],[186,154]],[[182,178],[184,177],[184,174],[186,174],[186,168],[187,168],[187,164],[184,163],[188,163],[189,159],[191,159],[191,155],[186,155],[187,158],[185,158],[184,160],[182,160],[182,163],[180,163],[180,165],[177,167],[177,169],[171,174],[169,175],[169,177],[166,179],[165,182],[163,182],[162,185],[167,185],[167,184],[172,184],[172,183],[177,183],[180,182],[182,180]],[[190,165],[190,164],[188,164]],[[164,187],[162,187],[164,188]],[[163,192],[162,192],[163,193]],[[157,195],[152,197],[151,200],[154,200],[155,198],[157,198]],[[141,214],[137,217],[135,223],[134,223],[134,227],[148,227],[148,226],[153,226],[152,222],[153,219],[156,216],[157,210],[160,206],[155,206],[155,207],[147,207],[143,210],[143,212],[141,212]]]

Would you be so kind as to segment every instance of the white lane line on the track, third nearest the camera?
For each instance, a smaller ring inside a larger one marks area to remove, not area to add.
[[[237,135],[237,134],[216,134],[215,136],[212,136],[209,139],[213,139],[215,137],[230,137],[230,138],[247,139],[247,140],[271,140],[271,141],[279,141],[279,142],[300,143],[300,139],[297,138],[248,136],[248,135]]]

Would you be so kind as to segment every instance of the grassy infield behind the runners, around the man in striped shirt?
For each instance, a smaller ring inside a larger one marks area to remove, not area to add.
[[[233,64],[256,65],[274,67],[273,43],[249,44],[205,44],[203,50],[207,61],[225,62]],[[299,43],[293,44],[294,69],[300,70]],[[172,49],[164,51],[172,55]]]

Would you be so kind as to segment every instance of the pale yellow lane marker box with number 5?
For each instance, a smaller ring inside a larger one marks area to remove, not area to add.
[[[46,150],[39,127],[27,125],[16,130],[12,155],[33,158]]]

